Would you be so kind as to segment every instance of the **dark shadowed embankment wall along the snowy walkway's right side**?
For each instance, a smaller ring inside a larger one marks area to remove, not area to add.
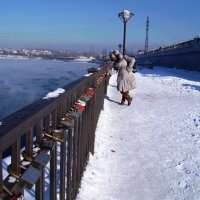
[[[200,71],[200,37],[136,55],[138,63]]]

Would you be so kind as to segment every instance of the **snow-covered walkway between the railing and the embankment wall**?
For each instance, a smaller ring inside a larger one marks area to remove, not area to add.
[[[129,107],[111,77],[77,200],[199,200],[200,73],[135,75]]]

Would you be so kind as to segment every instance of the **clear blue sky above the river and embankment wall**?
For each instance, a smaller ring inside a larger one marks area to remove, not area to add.
[[[123,41],[117,14],[135,16],[127,24],[127,48],[149,49],[191,39],[200,33],[200,0],[2,0],[0,47],[69,50],[115,49]]]

